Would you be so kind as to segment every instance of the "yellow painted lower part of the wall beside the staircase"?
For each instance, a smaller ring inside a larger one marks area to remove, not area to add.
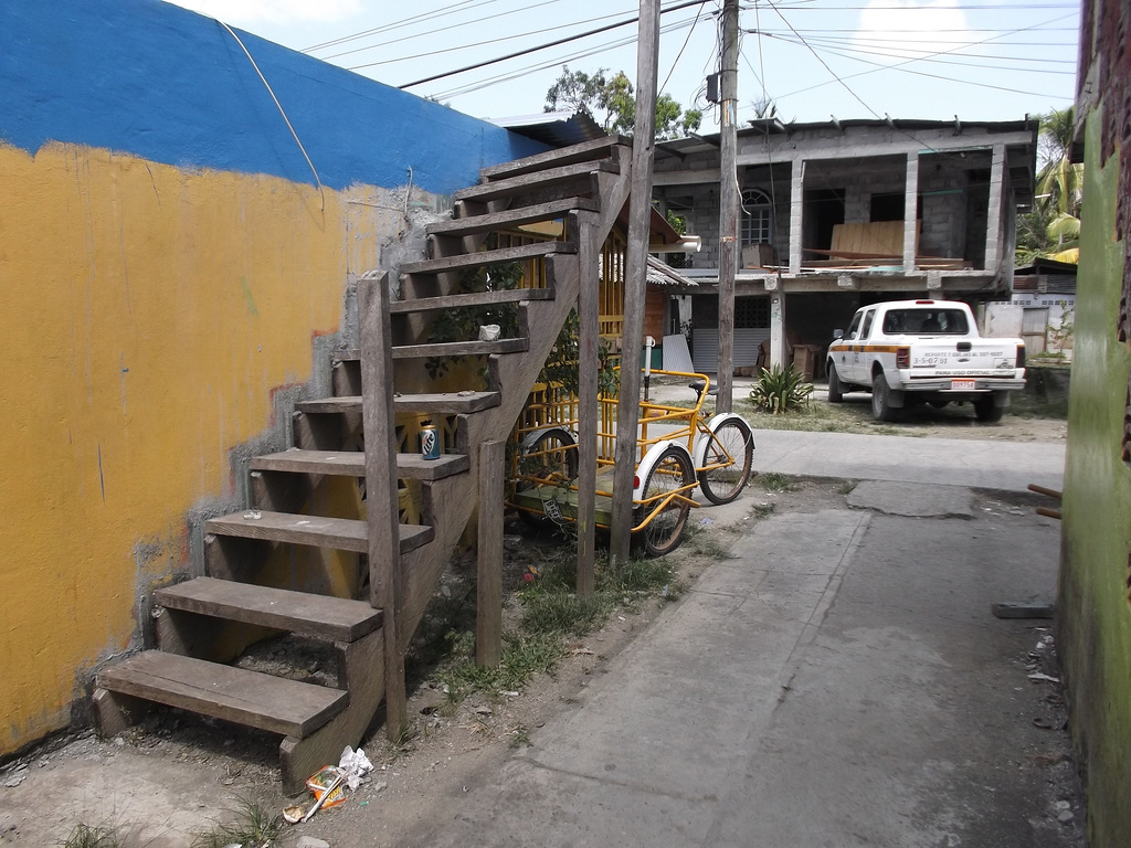
[[[398,211],[103,149],[0,144],[0,754],[66,726],[189,510],[310,378]],[[382,190],[383,191],[383,190]]]

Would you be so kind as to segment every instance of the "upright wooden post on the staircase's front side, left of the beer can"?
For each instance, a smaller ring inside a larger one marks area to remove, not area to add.
[[[361,325],[362,417],[365,432],[365,501],[369,522],[370,603],[383,614],[386,733],[396,739],[408,727],[405,655],[400,649],[404,574],[397,513],[396,418],[392,407],[389,279],[357,284]]]

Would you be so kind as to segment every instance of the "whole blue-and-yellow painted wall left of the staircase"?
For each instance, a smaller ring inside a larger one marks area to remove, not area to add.
[[[545,149],[240,36],[320,184],[215,20],[0,3],[0,755],[138,644],[191,528],[240,505],[248,445],[282,447],[327,382],[352,282],[481,167]]]

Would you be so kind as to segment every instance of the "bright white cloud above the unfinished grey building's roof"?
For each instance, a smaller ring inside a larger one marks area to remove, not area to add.
[[[953,0],[870,0],[861,12],[854,47],[867,51],[872,61],[895,63],[975,41],[979,36],[970,32],[965,12]]]

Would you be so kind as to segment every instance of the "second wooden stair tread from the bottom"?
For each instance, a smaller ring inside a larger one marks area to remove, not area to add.
[[[171,609],[260,624],[291,633],[353,642],[381,626],[368,602],[198,577],[154,592]]]

